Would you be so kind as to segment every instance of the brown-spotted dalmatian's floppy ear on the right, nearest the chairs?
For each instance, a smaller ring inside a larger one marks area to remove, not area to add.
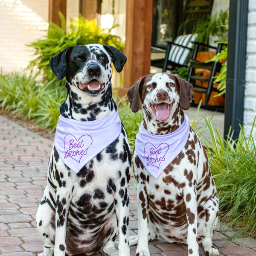
[[[193,85],[178,75],[175,76],[180,89],[180,107],[187,110],[190,108],[190,101],[193,95]]]

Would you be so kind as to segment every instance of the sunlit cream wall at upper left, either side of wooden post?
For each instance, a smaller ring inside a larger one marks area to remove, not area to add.
[[[0,0],[0,68],[20,72],[33,56],[26,44],[42,38],[48,29],[48,0]],[[67,0],[67,25],[77,17],[79,0]]]

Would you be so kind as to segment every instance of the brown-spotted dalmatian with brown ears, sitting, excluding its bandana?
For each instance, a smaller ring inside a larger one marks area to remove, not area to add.
[[[128,90],[128,99],[133,112],[139,111],[142,102],[143,127],[151,134],[164,135],[183,123],[183,110],[190,107],[192,92],[192,84],[179,76],[157,73],[141,77]],[[212,246],[219,200],[208,157],[191,127],[185,143],[157,179],[134,150],[139,218],[136,256],[149,256],[148,241],[157,237],[186,243],[189,256],[199,255],[200,242],[206,255],[219,255]]]

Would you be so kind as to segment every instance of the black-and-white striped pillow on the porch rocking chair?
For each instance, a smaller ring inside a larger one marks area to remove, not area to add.
[[[191,43],[191,41],[195,41],[196,38],[197,34],[179,35],[175,39],[174,43],[192,48],[193,44]],[[168,60],[180,65],[187,65],[189,62],[189,52],[189,49],[177,45],[172,45]]]

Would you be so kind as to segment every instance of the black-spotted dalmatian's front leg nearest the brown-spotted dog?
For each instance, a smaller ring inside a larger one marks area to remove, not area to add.
[[[119,232],[119,256],[130,256],[129,247],[129,193],[128,183],[116,190],[116,217]]]

